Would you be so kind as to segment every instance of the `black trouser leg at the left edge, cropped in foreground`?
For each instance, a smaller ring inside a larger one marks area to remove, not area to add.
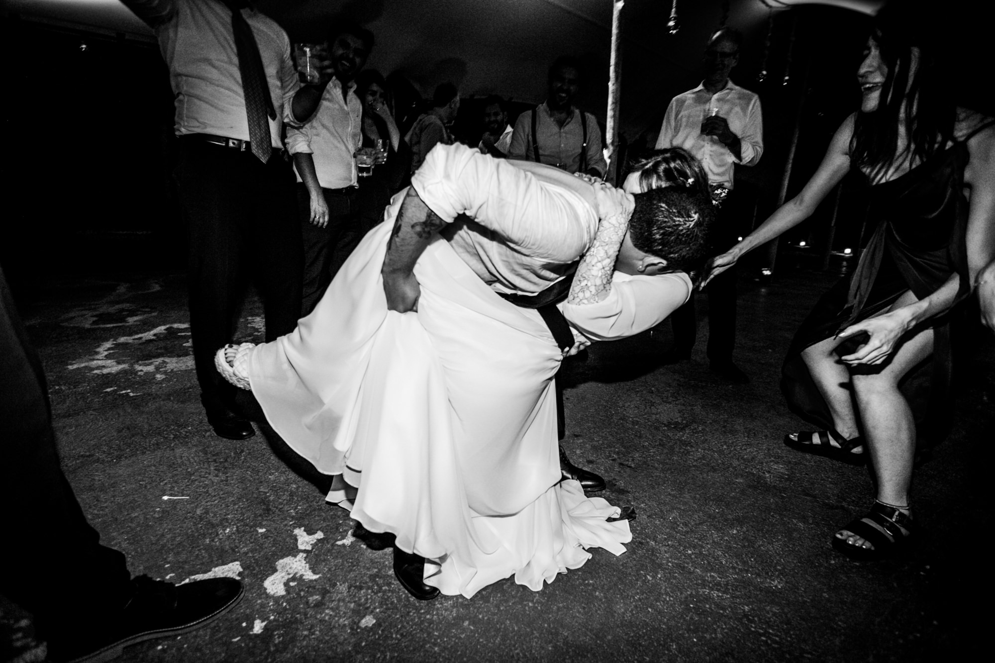
[[[39,639],[65,651],[104,633],[131,574],[100,546],[63,474],[42,364],[2,272],[0,514],[0,593],[35,615]]]

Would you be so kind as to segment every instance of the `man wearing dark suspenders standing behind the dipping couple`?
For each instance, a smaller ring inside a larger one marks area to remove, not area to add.
[[[567,172],[603,177],[608,167],[594,116],[573,105],[580,88],[580,63],[561,56],[549,68],[549,95],[535,110],[518,115],[508,158],[553,165]]]

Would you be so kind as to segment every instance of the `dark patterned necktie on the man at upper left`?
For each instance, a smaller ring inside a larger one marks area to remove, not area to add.
[[[270,160],[273,152],[270,137],[270,122],[267,119],[277,118],[270,97],[270,86],[266,82],[266,70],[263,69],[263,58],[259,55],[259,46],[252,28],[242,16],[242,10],[236,0],[225,0],[232,10],[232,32],[235,35],[235,48],[239,55],[239,72],[242,74],[242,92],[246,101],[246,117],[249,120],[249,146],[263,163]]]

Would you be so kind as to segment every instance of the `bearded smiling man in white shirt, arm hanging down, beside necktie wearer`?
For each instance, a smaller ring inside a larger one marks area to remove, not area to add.
[[[351,246],[360,232],[354,154],[362,144],[362,107],[353,79],[373,49],[373,33],[352,24],[335,28],[328,46],[333,76],[321,104],[310,121],[287,130],[304,247],[301,316],[311,312],[344,262],[334,260],[335,247]]]

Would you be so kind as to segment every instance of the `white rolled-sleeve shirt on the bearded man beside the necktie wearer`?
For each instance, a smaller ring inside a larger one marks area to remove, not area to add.
[[[346,103],[342,99],[342,84],[332,79],[311,120],[300,128],[287,129],[288,151],[310,154],[318,184],[326,189],[341,189],[356,183],[352,155],[362,145],[363,110],[355,89],[355,83],[348,85]]]

